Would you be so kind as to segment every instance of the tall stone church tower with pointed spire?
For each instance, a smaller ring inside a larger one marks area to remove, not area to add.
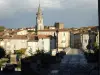
[[[40,7],[40,3],[39,3],[39,7],[38,7],[38,12],[36,13],[36,31],[38,30],[43,30],[44,29],[44,25],[43,25],[43,14],[42,14],[42,10]]]

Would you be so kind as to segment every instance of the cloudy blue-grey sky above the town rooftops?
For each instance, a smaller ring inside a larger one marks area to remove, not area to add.
[[[64,27],[98,25],[98,0],[40,0],[44,25],[55,22]],[[39,0],[0,0],[0,26],[33,27]]]

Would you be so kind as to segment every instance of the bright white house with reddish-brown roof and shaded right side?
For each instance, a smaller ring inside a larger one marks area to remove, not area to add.
[[[50,53],[51,50],[56,48],[55,38],[49,35],[35,35],[30,38],[27,42],[28,48],[26,50],[26,55],[31,55],[36,53],[36,50],[44,50],[46,53]]]

